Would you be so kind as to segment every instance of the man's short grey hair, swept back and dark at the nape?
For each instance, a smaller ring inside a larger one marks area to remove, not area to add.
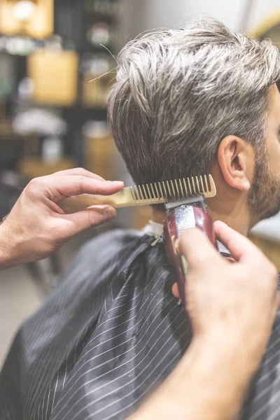
[[[125,45],[109,94],[109,123],[137,183],[207,174],[232,134],[260,150],[269,86],[280,77],[271,41],[202,19]]]

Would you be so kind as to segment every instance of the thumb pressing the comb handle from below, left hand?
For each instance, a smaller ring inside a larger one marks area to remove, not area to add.
[[[61,217],[61,216],[60,216]],[[64,220],[70,221],[69,236],[77,235],[83,230],[101,225],[116,217],[116,209],[111,206],[93,206],[73,214],[62,216]]]

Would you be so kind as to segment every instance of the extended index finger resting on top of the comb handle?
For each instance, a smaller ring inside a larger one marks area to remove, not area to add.
[[[86,176],[56,176],[45,188],[48,198],[53,201],[62,200],[80,194],[111,195],[123,189],[122,181],[99,181]]]

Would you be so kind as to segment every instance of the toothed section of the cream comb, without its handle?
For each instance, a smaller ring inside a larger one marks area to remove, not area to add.
[[[129,187],[135,201],[174,200],[195,195],[214,197],[216,187],[211,175],[192,176],[190,178],[147,183]],[[126,188],[125,188],[126,189]]]

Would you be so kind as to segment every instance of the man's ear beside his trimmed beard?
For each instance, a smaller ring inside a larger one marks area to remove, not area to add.
[[[218,164],[225,182],[237,190],[248,191],[253,180],[253,146],[236,136],[225,137],[218,148]]]

